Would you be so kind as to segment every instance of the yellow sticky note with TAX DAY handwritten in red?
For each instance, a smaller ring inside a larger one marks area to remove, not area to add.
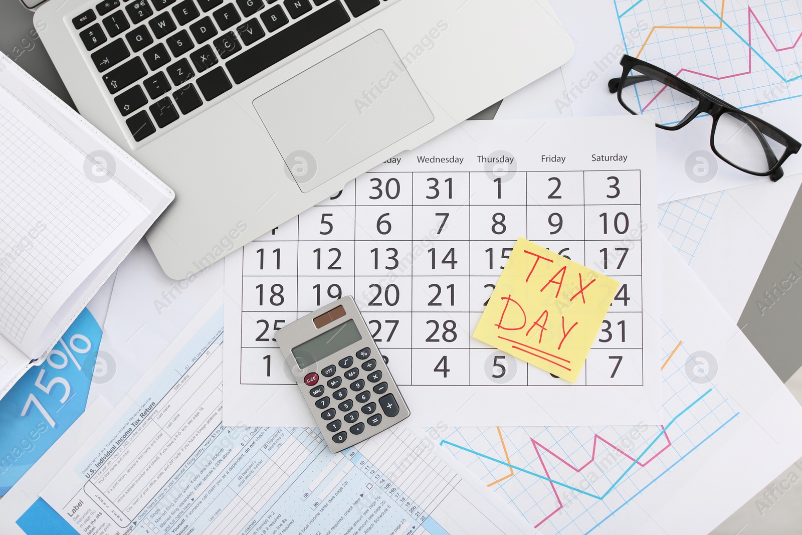
[[[473,337],[575,383],[618,285],[520,237]]]

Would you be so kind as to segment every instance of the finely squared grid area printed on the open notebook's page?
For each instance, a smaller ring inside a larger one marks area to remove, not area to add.
[[[128,217],[0,106],[0,330],[22,342],[67,277]]]

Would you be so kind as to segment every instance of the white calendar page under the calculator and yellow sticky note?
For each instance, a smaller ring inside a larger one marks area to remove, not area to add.
[[[344,295],[406,425],[661,424],[654,162],[642,117],[468,121],[230,254],[224,424],[314,426],[275,331]],[[621,282],[576,383],[471,336],[518,237]]]

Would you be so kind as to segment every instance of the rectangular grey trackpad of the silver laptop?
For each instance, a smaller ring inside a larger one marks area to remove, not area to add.
[[[383,30],[257,97],[253,106],[304,193],[434,120]]]

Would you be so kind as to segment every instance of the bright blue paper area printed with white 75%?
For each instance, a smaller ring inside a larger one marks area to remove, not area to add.
[[[0,496],[83,414],[102,334],[84,309],[45,362],[0,399]]]

